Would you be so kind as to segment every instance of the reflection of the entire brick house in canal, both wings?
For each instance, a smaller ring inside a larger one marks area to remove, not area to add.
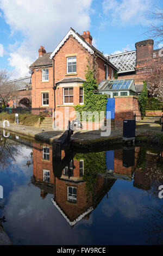
[[[37,146],[36,143],[33,145]],[[32,183],[40,188],[42,199],[48,193],[53,194],[52,203],[71,226],[83,218],[88,219],[115,180],[97,176],[95,191],[88,192],[83,180],[83,159],[70,160],[70,166],[65,166],[61,177],[57,178],[52,164],[52,147],[43,144],[41,148],[41,151],[33,149]]]

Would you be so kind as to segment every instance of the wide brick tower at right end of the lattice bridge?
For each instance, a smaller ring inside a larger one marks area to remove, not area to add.
[[[152,39],[136,42],[136,68],[147,66],[153,59],[153,44]]]

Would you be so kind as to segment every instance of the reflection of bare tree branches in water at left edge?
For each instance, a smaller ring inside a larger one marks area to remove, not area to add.
[[[18,143],[4,137],[1,138],[2,140],[0,141],[0,169],[5,170],[11,164],[13,165],[13,163],[16,163],[15,156],[21,154],[21,149]]]

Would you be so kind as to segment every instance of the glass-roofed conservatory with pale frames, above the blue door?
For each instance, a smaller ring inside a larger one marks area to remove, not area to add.
[[[98,93],[108,97],[137,95],[134,79],[127,80],[102,80],[98,84]]]

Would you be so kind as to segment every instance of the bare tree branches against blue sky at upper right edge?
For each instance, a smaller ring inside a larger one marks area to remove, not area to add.
[[[163,40],[163,9],[156,8],[156,11],[150,12],[148,17],[153,23],[147,29],[145,34],[151,36],[155,40],[155,44],[158,45]],[[160,25],[156,26],[154,21],[157,23],[159,22]]]

